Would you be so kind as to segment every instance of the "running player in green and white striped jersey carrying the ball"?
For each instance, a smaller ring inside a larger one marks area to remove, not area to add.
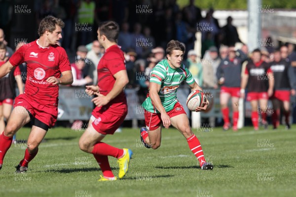
[[[192,91],[202,90],[182,64],[184,53],[185,45],[178,40],[171,40],[167,44],[166,60],[159,62],[150,73],[148,98],[142,104],[146,128],[141,128],[141,141],[145,147],[157,149],[161,142],[161,124],[166,129],[172,125],[186,138],[201,169],[213,169],[213,164],[206,163],[200,142],[191,131],[186,112],[177,99],[177,89],[184,80]],[[207,100],[196,111],[204,111],[208,105]]]

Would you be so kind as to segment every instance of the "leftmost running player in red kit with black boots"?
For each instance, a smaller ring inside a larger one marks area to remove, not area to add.
[[[11,146],[12,136],[31,121],[33,126],[25,157],[16,166],[16,172],[26,172],[29,162],[37,155],[40,142],[57,120],[59,84],[67,85],[73,82],[66,51],[57,45],[62,38],[63,27],[64,22],[61,19],[45,17],[39,24],[39,39],[23,45],[0,67],[2,78],[14,66],[27,63],[24,94],[15,99],[7,126],[0,135],[0,168]]]

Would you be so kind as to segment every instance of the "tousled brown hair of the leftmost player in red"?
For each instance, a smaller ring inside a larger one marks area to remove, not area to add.
[[[41,36],[47,30],[50,33],[53,33],[56,29],[56,25],[60,28],[64,28],[65,23],[60,18],[56,18],[54,16],[46,16],[41,20],[38,28],[38,35]]]

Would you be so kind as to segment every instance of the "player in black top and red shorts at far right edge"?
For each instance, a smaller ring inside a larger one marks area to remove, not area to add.
[[[270,63],[270,69],[274,74],[274,94],[270,98],[272,100],[273,113],[272,124],[273,129],[279,126],[280,106],[283,105],[286,128],[290,129],[289,116],[290,116],[290,93],[295,95],[295,81],[296,78],[293,75],[293,67],[290,66],[290,62],[281,58],[281,52],[275,50],[274,61]]]

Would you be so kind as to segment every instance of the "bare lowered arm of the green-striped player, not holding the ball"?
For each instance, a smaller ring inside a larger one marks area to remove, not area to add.
[[[160,84],[150,82],[149,97],[150,97],[153,105],[156,107],[156,109],[161,114],[161,120],[162,120],[163,126],[168,129],[171,125],[171,119],[170,119],[169,115],[166,113],[163,105],[161,104],[161,100],[158,95],[160,88],[161,88]]]

